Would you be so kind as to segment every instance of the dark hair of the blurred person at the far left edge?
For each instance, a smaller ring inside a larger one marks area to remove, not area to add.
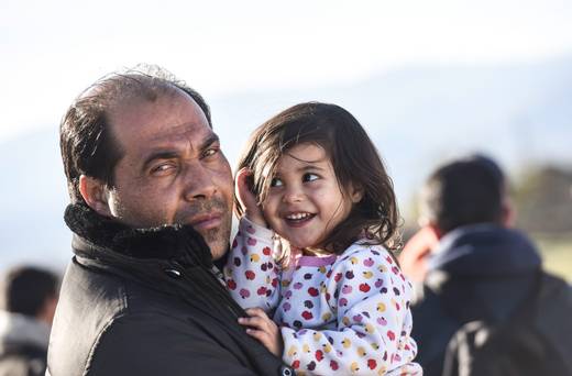
[[[1,284],[0,308],[36,317],[48,298],[57,297],[59,278],[52,272],[20,266],[7,272]]]

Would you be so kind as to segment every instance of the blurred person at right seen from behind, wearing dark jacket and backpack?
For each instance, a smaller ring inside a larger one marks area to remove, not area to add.
[[[426,376],[572,369],[571,291],[542,272],[513,217],[505,176],[488,157],[453,161],[428,178],[422,228],[400,259],[422,284],[411,335]]]

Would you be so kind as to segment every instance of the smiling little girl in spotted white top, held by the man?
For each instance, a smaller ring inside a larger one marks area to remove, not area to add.
[[[393,185],[355,118],[310,102],[268,120],[239,163],[237,198],[224,275],[249,334],[298,375],[421,374],[411,286],[386,250]]]

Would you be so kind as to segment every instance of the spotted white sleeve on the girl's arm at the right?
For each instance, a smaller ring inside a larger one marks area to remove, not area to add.
[[[409,333],[403,332],[410,300],[406,284],[385,250],[342,257],[326,289],[337,329],[283,328],[284,361],[297,372],[319,375],[383,375],[410,362],[415,353],[405,355],[411,349]]]

